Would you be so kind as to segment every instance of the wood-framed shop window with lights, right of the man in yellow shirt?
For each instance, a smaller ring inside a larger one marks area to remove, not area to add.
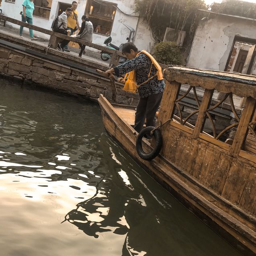
[[[93,24],[94,33],[111,34],[117,4],[100,0],[88,0],[85,15]]]

